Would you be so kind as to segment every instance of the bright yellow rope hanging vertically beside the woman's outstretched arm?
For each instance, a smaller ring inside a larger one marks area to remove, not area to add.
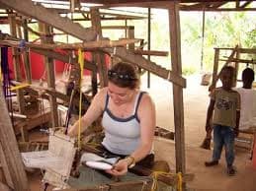
[[[78,49],[78,63],[80,64],[80,99],[79,99],[79,126],[78,126],[78,150],[81,148],[81,115],[82,115],[82,79],[83,79],[83,69],[84,69],[84,56],[82,49]]]

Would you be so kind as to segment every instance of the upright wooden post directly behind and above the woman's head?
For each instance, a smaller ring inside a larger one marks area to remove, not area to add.
[[[101,39],[102,27],[101,27],[101,17],[100,17],[99,9],[91,8],[90,13],[91,13],[92,28],[97,32],[98,38]],[[96,62],[98,66],[101,88],[108,86],[107,66],[105,62],[104,53],[100,53],[100,52],[93,53],[93,62]]]

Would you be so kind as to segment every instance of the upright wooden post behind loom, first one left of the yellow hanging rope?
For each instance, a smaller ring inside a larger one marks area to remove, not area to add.
[[[43,23],[39,23],[40,32],[45,35],[41,38],[44,43],[53,43],[53,38],[51,36],[51,28]],[[47,86],[48,88],[55,89],[55,68],[54,61],[52,58],[44,57],[44,65],[47,74]],[[51,108],[51,125],[52,127],[58,126],[58,116],[57,116],[57,101],[56,96],[49,96],[49,104]]]

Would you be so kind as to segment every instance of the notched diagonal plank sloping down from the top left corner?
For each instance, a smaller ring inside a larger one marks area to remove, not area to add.
[[[94,32],[94,30],[83,28],[79,24],[74,24],[68,18],[60,17],[54,10],[46,9],[31,0],[23,0],[22,3],[20,0],[0,0],[0,3],[24,15],[31,16],[45,24],[53,26],[62,32],[70,33],[78,38],[83,36],[82,39],[84,41],[96,39],[96,32]]]

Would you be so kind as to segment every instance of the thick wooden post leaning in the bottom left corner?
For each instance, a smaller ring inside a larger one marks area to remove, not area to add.
[[[21,154],[12,127],[12,122],[7,110],[6,102],[3,96],[3,90],[0,89],[0,144],[2,146],[3,156],[5,157],[15,191],[28,191],[28,179],[24,170]],[[10,186],[10,185],[9,185]]]

